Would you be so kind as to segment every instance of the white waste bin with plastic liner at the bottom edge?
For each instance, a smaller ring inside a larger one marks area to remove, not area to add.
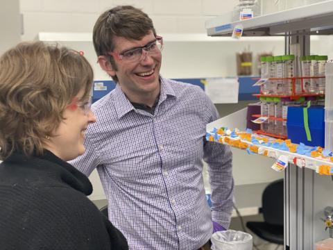
[[[242,231],[219,231],[212,234],[212,250],[252,250],[252,235]]]

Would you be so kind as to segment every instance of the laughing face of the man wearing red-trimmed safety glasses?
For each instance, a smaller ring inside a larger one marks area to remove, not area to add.
[[[114,51],[123,53],[136,47],[144,47],[155,41],[153,32],[145,35],[141,40],[128,40],[126,38],[114,38]],[[117,75],[121,90],[130,101],[139,101],[140,97],[156,96],[160,93],[160,67],[162,62],[161,51],[143,51],[137,60],[119,59],[114,56],[117,70],[108,72],[111,76]]]

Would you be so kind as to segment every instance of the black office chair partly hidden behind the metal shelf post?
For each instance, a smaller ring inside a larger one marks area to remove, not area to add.
[[[283,244],[283,179],[273,181],[262,194],[264,222],[247,222],[246,226],[259,238]]]

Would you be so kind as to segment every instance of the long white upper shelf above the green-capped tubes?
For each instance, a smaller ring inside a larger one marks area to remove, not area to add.
[[[221,15],[206,21],[207,35],[229,36],[241,24],[243,36],[284,35],[285,31],[310,29],[309,34],[333,33],[333,1],[323,1],[243,21],[230,22],[230,15]],[[320,28],[318,28],[320,27]]]

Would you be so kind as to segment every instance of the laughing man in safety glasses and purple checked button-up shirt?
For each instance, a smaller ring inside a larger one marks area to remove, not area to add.
[[[104,12],[93,33],[99,65],[117,82],[94,103],[86,152],[72,164],[97,168],[109,219],[130,249],[210,249],[232,211],[232,154],[205,140],[218,118],[197,86],[160,76],[162,38],[151,19],[132,6]],[[209,165],[212,211],[203,186]]]

